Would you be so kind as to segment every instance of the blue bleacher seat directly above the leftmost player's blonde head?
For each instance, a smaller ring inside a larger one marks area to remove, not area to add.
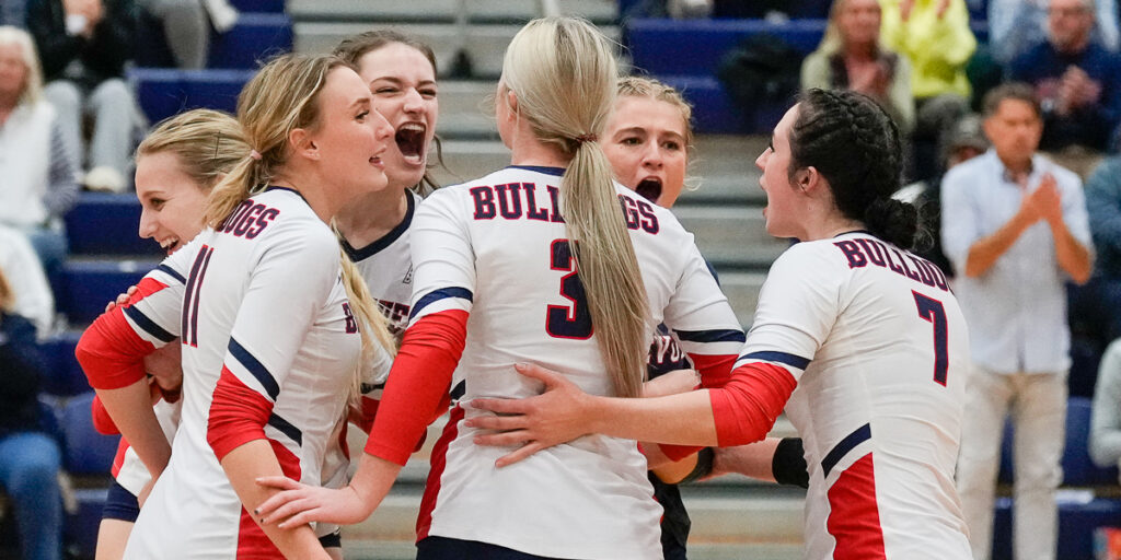
[[[155,123],[188,109],[207,108],[233,113],[238,108],[238,93],[253,74],[251,69],[135,68],[129,80],[145,115]]]

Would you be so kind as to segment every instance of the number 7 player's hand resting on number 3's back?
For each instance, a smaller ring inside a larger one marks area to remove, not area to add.
[[[464,421],[470,428],[498,432],[476,436],[476,445],[519,446],[494,461],[495,467],[513,465],[541,449],[590,432],[586,410],[592,398],[587,393],[557,372],[531,364],[517,364],[515,368],[544,383],[545,392],[526,399],[474,399],[471,408],[494,412],[495,416],[480,416]]]

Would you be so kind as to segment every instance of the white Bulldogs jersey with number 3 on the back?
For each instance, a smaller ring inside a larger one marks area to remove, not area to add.
[[[454,407],[433,455],[418,538],[483,541],[549,558],[661,557],[661,506],[633,440],[585,436],[494,468],[511,448],[472,442],[463,400],[518,399],[541,386],[513,370],[564,372],[613,394],[559,215],[563,169],[512,166],[444,187],[413,225],[413,319],[469,311]],[[668,211],[615,185],[650,302],[691,356],[734,356],[739,324],[686,232]],[[730,366],[728,360],[725,368]]]

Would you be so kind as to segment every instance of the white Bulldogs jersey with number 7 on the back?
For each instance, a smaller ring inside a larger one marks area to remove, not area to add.
[[[807,559],[969,559],[954,466],[965,319],[930,262],[862,232],[798,243],[771,267],[736,367],[798,380]]]

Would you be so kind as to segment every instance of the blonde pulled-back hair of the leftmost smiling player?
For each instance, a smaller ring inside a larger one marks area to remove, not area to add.
[[[137,158],[174,153],[179,166],[203,190],[210,190],[249,156],[249,144],[233,116],[194,109],[164,119],[137,147]]]

